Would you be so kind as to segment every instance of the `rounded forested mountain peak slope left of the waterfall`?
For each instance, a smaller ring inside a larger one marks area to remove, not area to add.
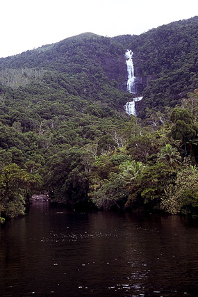
[[[17,56],[1,58],[0,70],[40,67],[71,75],[104,71],[110,79],[119,80],[126,72],[123,53],[122,45],[110,38],[83,33]]]

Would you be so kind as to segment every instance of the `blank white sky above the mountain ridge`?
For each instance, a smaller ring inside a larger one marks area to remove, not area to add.
[[[197,0],[0,0],[0,57],[83,32],[140,34],[198,15]]]

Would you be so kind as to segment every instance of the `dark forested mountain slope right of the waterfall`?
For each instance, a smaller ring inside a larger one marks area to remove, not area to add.
[[[147,79],[145,107],[173,107],[197,88],[198,17],[113,40],[132,49],[135,75]]]

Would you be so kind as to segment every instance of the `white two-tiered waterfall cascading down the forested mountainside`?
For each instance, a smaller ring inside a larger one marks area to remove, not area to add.
[[[135,76],[134,76],[134,67],[133,67],[133,51],[131,49],[127,49],[125,53],[126,57],[126,66],[127,66],[127,92],[135,94]],[[126,113],[129,115],[135,115],[135,102],[142,100],[143,97],[135,97],[133,101],[127,102],[124,105],[124,109]]]

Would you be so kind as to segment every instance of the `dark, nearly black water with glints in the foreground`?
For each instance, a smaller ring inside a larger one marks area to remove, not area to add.
[[[198,296],[198,223],[35,202],[0,230],[0,296]]]

